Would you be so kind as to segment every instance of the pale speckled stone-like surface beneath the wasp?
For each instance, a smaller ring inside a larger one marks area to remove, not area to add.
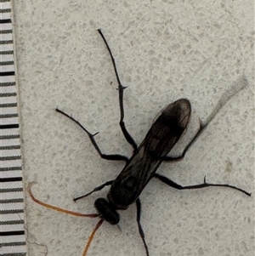
[[[249,83],[229,101],[182,162],[158,172],[181,185],[208,182],[253,192],[253,1],[14,1],[24,175],[34,194],[62,208],[94,213],[94,199],[72,197],[119,174],[86,134],[54,111],[72,113],[101,150],[131,156],[118,127],[116,78],[96,29],[105,33],[125,90],[125,121],[139,143],[156,113],[188,98],[190,129],[176,152],[242,74]],[[254,194],[253,194],[254,195]],[[209,188],[176,191],[151,180],[140,196],[150,256],[253,256],[254,197]],[[96,220],[42,208],[26,194],[29,256],[82,256]],[[145,255],[135,207],[121,213],[122,232],[104,224],[88,251]]]

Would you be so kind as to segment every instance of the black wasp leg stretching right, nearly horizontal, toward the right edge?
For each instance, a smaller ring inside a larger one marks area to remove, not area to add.
[[[155,174],[154,175],[155,178],[160,179],[163,183],[172,186],[173,188],[177,189],[177,190],[195,190],[195,189],[201,189],[201,188],[205,188],[208,186],[224,186],[230,189],[234,189],[236,191],[241,191],[242,193],[245,193],[246,196],[251,196],[251,193],[248,193],[244,190],[241,190],[240,188],[234,186],[234,185],[228,185],[228,184],[211,184],[211,183],[207,183],[206,180],[206,176],[204,178],[204,182],[198,185],[186,185],[186,186],[182,186],[182,185],[178,185],[177,183],[175,183],[173,180],[168,179],[165,176],[162,176],[161,174]]]

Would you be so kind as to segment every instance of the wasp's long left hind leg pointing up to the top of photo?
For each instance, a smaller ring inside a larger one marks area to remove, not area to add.
[[[122,86],[122,82],[121,82],[120,77],[118,75],[118,72],[116,70],[115,60],[113,58],[113,55],[111,54],[111,48],[109,47],[102,31],[101,30],[98,30],[98,31],[99,31],[100,36],[103,38],[103,40],[105,42],[105,45],[106,45],[106,48],[108,49],[109,54],[111,55],[111,62],[112,62],[112,65],[113,65],[113,68],[114,68],[114,71],[115,71],[116,80],[118,82],[119,105],[120,105],[120,111],[121,111],[120,126],[122,128],[122,133],[124,134],[125,139],[127,139],[127,142],[130,145],[133,146],[133,151],[136,151],[137,150],[137,145],[136,145],[134,139],[132,138],[132,136],[127,132],[127,128],[125,127],[125,122],[123,121],[124,120],[123,92],[124,92],[124,89],[126,87]]]

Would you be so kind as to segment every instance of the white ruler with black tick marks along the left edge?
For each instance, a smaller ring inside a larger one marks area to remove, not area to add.
[[[12,3],[0,0],[0,256],[26,255]]]

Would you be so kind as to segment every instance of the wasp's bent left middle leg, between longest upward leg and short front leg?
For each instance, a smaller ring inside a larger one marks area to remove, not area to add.
[[[112,155],[106,155],[106,154],[103,154],[100,149],[99,149],[99,145],[97,145],[95,139],[94,139],[94,136],[96,134],[99,134],[99,133],[96,133],[96,134],[90,134],[88,132],[88,130],[86,128],[84,128],[82,126],[82,124],[80,122],[78,122],[76,119],[74,119],[73,117],[67,115],[64,111],[60,111],[59,109],[56,109],[57,112],[61,113],[62,115],[64,115],[65,117],[68,117],[69,119],[71,119],[71,121],[73,122],[76,122],[77,125],[82,128],[83,131],[86,132],[86,134],[88,134],[88,137],[91,141],[91,143],[94,145],[94,148],[96,151],[98,151],[99,155],[103,158],[103,159],[106,159],[106,160],[116,160],[116,161],[128,161],[128,157],[127,156],[122,156],[122,155],[118,155],[118,154],[112,154]]]

